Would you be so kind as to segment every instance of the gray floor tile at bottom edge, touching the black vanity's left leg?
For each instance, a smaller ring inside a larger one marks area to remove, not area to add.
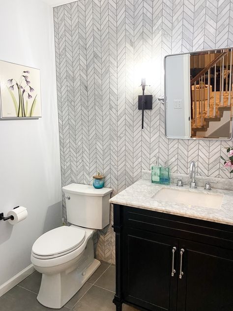
[[[75,305],[74,311],[116,311],[113,304],[114,293],[92,286],[86,295]]]

